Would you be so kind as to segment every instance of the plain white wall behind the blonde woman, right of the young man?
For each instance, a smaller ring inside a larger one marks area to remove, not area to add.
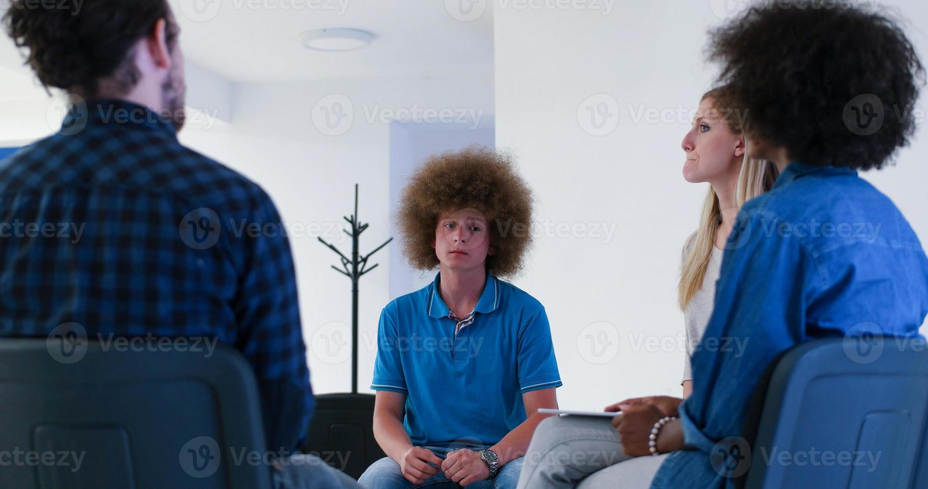
[[[928,61],[928,11],[903,3],[914,24],[909,33]],[[706,29],[720,22],[712,7],[724,10],[720,2],[625,2],[604,15],[494,4],[496,144],[516,152],[535,187],[537,220],[573,229],[550,227],[516,281],[548,308],[561,406],[597,409],[633,395],[678,395],[680,251],[707,191],[683,180],[680,140],[713,81],[702,46]],[[595,121],[589,109],[608,117]],[[638,118],[641,110],[646,117]],[[866,177],[928,244],[926,160],[922,123],[896,167]],[[611,239],[590,236],[600,223],[614,226]]]

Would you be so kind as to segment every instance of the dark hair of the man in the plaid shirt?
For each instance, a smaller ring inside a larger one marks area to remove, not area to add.
[[[111,77],[128,92],[139,72],[131,56],[135,43],[167,20],[165,37],[174,49],[178,28],[167,0],[84,0],[54,6],[15,0],[3,17],[13,42],[28,49],[26,64],[45,88],[96,97],[101,78]]]

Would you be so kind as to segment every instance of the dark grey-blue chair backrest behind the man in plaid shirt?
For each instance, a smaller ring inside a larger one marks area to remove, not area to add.
[[[270,489],[238,352],[58,340],[0,340],[0,487]]]

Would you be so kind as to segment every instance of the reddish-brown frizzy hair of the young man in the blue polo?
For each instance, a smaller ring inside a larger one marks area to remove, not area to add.
[[[494,254],[486,267],[496,277],[516,275],[532,244],[532,190],[513,158],[481,147],[432,155],[413,174],[396,212],[403,251],[414,268],[438,266],[432,249],[444,212],[472,208],[483,213]]]

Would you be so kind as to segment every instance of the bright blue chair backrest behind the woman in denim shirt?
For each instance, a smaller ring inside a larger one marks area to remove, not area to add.
[[[810,341],[773,369],[746,487],[923,487],[925,450],[923,339]]]

